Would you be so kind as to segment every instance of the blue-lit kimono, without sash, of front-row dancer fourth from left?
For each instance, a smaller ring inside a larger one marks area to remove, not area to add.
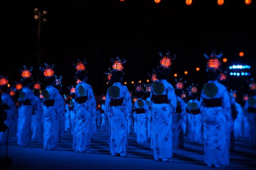
[[[117,98],[111,98],[108,93],[106,96],[106,110],[108,117],[111,117],[111,138],[110,138],[110,153],[111,154],[126,154],[128,147],[128,119],[132,112],[132,102],[129,91],[125,85],[117,82],[113,86],[117,86],[120,90]],[[111,99],[124,98],[122,105],[110,106]]]

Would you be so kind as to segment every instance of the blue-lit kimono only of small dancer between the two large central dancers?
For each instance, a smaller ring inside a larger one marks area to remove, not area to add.
[[[143,107],[139,107],[138,101],[143,101]],[[137,124],[137,142],[146,142],[148,141],[148,115],[149,115],[149,108],[146,101],[142,98],[138,98],[137,101],[134,103],[134,110],[135,109],[144,109],[145,113],[137,114],[136,111],[133,112],[134,114],[134,123]]]

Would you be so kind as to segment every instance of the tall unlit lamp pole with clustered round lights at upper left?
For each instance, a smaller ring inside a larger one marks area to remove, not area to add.
[[[34,9],[34,20],[38,22],[38,28],[37,28],[37,67],[40,66],[40,31],[41,31],[41,24],[46,22],[47,19],[45,18],[45,15],[47,14],[46,10],[43,10],[43,12],[39,11],[38,8]]]

